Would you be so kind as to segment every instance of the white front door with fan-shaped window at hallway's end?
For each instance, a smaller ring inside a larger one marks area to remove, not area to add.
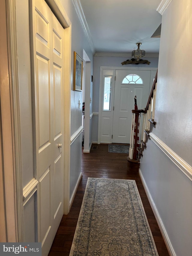
[[[151,71],[116,70],[112,143],[130,143],[134,96],[137,107],[146,107]]]

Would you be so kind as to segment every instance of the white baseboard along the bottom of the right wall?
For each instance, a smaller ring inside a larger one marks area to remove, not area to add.
[[[164,224],[163,224],[163,222],[162,222],[162,220],[161,220],[161,217],[160,217],[160,215],[159,215],[159,213],[158,213],[158,210],[157,210],[157,208],[156,208],[156,206],[155,206],[155,203],[154,203],[154,201],[153,201],[153,199],[152,199],[152,196],[151,196],[151,194],[150,194],[150,192],[149,192],[149,189],[148,189],[148,187],[147,187],[147,184],[146,184],[146,182],[145,182],[145,180],[144,180],[144,177],[143,177],[143,175],[142,175],[142,173],[141,173],[140,168],[139,168],[139,174],[140,174],[141,181],[142,181],[142,183],[143,183],[143,187],[144,187],[144,189],[145,189],[145,191],[146,191],[146,194],[147,194],[147,197],[148,197],[148,199],[149,199],[149,203],[151,204],[151,207],[152,207],[152,210],[153,210],[153,212],[154,212],[155,218],[156,218],[156,220],[157,220],[157,222],[158,222],[158,225],[159,225],[159,227],[160,227],[161,233],[162,233],[162,235],[163,235],[163,237],[164,237],[164,240],[165,240],[165,242],[166,242],[166,244],[167,244],[168,250],[169,250],[171,256],[176,256],[176,253],[175,253],[175,251],[174,251],[174,249],[173,249],[173,246],[172,246],[172,244],[171,244],[171,241],[170,241],[170,239],[169,239],[169,236],[168,236],[168,234],[167,234],[167,232],[166,232],[166,229],[165,229],[165,227],[164,227]]]

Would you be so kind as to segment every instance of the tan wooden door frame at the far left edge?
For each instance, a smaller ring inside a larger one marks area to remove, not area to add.
[[[5,4],[6,2],[6,4]],[[19,90],[16,48],[15,2],[4,1],[1,16],[0,64],[1,158],[4,194],[6,241],[19,242],[23,237]]]

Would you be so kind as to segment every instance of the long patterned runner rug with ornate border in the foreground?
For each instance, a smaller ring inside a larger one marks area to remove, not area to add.
[[[88,178],[70,256],[158,255],[135,180]]]

